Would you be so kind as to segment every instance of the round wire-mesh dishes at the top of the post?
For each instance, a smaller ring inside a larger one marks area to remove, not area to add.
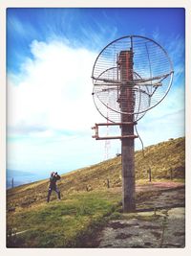
[[[166,96],[173,73],[166,51],[154,40],[118,38],[100,52],[93,67],[96,108],[111,122],[128,121],[130,116],[138,121]]]

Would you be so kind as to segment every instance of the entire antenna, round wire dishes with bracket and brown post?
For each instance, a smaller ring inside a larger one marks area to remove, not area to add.
[[[96,140],[120,139],[123,212],[136,211],[134,126],[170,90],[173,65],[156,41],[127,35],[109,43],[97,56],[92,79],[93,100],[110,123],[96,124]],[[101,137],[101,126],[119,126],[118,136]]]

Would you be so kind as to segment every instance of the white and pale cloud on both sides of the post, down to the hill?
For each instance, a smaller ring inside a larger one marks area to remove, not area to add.
[[[33,41],[31,51],[21,73],[8,76],[8,167],[68,171],[102,161],[105,141],[91,137],[91,127],[105,122],[91,96],[97,54],[58,40]],[[183,85],[176,84],[138,122],[145,146],[181,136],[183,104]],[[120,152],[120,141],[109,151]]]

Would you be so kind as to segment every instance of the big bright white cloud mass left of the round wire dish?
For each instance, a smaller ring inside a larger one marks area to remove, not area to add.
[[[33,41],[31,51],[33,59],[26,59],[17,79],[8,77],[11,130],[91,127],[96,121],[90,78],[96,54],[59,41]]]

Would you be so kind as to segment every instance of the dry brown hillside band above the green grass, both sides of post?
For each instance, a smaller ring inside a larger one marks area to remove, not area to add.
[[[184,178],[185,139],[171,139],[157,145],[149,146],[142,151],[136,151],[136,177],[147,179],[150,168],[152,178],[169,178],[170,170],[174,178]],[[8,208],[25,207],[32,203],[46,200],[49,179],[22,185],[7,191]],[[58,182],[61,196],[79,191],[102,190],[107,187],[121,186],[121,157],[101,162],[99,164],[79,169],[62,175]],[[55,196],[53,196],[55,197]],[[52,197],[52,198],[53,198]]]

